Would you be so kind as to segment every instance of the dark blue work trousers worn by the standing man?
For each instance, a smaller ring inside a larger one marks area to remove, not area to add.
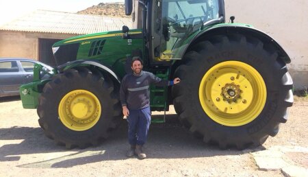
[[[129,110],[128,121],[128,139],[131,145],[144,145],[148,136],[151,124],[150,107],[140,110]]]

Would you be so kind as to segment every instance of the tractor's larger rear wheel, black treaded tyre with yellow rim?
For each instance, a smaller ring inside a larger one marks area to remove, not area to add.
[[[250,89],[240,84],[236,74],[228,76],[238,71],[239,78],[250,82]],[[263,144],[269,135],[274,137],[293,103],[293,82],[285,62],[273,47],[252,36],[219,35],[197,43],[185,54],[175,77],[181,78],[172,88],[180,121],[203,141],[222,149],[242,150]],[[230,97],[229,91],[236,97]],[[236,106],[239,109],[231,112]]]

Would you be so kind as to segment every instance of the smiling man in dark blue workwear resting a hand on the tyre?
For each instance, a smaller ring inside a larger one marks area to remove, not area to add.
[[[133,58],[131,69],[133,73],[124,76],[120,86],[120,102],[123,108],[123,115],[128,121],[128,139],[131,145],[127,156],[134,154],[138,158],[146,158],[142,152],[142,145],[146,143],[146,137],[151,123],[150,110],[150,84],[158,86],[170,86],[180,82],[179,78],[168,81],[157,78],[153,73],[142,71],[143,62],[140,58]]]

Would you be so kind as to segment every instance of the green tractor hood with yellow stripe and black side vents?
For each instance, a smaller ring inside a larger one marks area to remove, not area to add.
[[[138,29],[129,32],[141,33]],[[131,54],[131,48],[136,45],[142,47],[139,40],[123,39],[122,31],[101,32],[61,40],[53,45],[53,55],[57,66],[75,60],[100,60],[107,66],[112,66],[118,58]]]

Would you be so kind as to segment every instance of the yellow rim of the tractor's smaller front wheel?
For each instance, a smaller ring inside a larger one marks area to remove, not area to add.
[[[61,99],[58,113],[64,126],[70,130],[84,131],[99,121],[101,104],[97,96],[89,91],[70,91]]]

